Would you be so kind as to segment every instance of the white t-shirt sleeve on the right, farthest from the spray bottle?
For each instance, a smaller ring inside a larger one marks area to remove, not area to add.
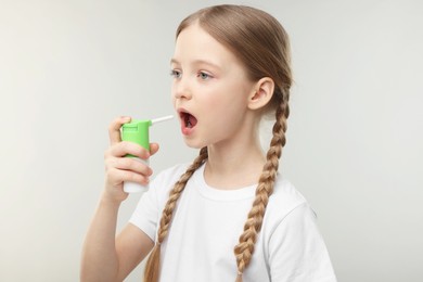
[[[269,241],[271,281],[336,282],[326,246],[307,203],[292,209]]]

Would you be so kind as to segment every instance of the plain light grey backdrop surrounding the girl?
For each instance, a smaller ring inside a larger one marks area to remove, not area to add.
[[[0,0],[0,281],[78,281],[110,121],[172,113],[175,29],[219,2]],[[282,171],[316,209],[338,280],[423,281],[422,1],[232,3],[291,35]],[[156,171],[196,154],[176,120],[152,140]]]

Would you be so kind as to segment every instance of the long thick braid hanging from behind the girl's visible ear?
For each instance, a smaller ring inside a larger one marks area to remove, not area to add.
[[[279,94],[277,99],[280,100],[280,103],[275,111],[277,120],[272,130],[273,138],[270,141],[270,148],[267,152],[267,161],[258,181],[253,207],[249,210],[248,218],[244,225],[244,232],[240,236],[239,244],[234,247],[238,265],[238,277],[235,282],[242,282],[242,274],[252,259],[254,245],[261,229],[269,196],[273,193],[274,181],[279,168],[279,158],[282,154],[282,148],[286,143],[285,132],[286,119],[290,115],[290,107],[287,103],[290,92],[289,90],[282,91],[282,93],[278,92],[274,94]]]

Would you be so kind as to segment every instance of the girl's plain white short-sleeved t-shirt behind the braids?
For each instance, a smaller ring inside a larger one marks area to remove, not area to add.
[[[155,241],[168,193],[185,171],[178,165],[161,172],[140,200],[130,222]],[[178,201],[162,244],[162,282],[231,282],[238,268],[233,253],[252,208],[256,185],[214,189],[204,165]],[[279,175],[244,282],[334,282],[332,264],[303,195]]]

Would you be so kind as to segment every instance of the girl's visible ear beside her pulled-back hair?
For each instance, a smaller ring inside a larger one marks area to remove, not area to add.
[[[264,77],[258,80],[252,94],[248,97],[248,108],[259,110],[266,106],[273,97],[274,81],[270,77]]]

